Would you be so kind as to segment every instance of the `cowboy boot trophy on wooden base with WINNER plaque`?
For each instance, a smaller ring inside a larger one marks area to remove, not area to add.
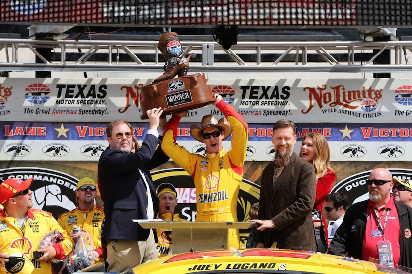
[[[146,111],[152,108],[162,107],[162,116],[165,116],[200,108],[215,101],[203,73],[186,75],[189,60],[194,55],[185,56],[177,33],[163,33],[157,48],[166,59],[164,73],[154,79],[152,84],[141,87],[141,119],[148,119]]]

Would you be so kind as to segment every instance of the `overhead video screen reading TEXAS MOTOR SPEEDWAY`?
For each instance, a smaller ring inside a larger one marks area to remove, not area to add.
[[[406,27],[410,0],[1,0],[2,24]]]

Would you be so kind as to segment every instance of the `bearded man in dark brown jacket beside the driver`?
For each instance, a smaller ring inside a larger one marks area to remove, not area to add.
[[[293,152],[296,125],[279,120],[273,127],[275,160],[261,179],[257,248],[316,250],[312,208],[316,175],[312,164]]]

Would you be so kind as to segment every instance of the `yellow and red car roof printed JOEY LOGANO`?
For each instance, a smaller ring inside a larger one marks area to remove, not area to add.
[[[291,273],[404,274],[372,262],[308,251],[281,249],[206,250],[146,262],[129,274]]]

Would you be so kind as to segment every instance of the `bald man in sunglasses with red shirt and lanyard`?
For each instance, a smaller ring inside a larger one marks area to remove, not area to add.
[[[369,200],[349,207],[328,253],[411,268],[412,209],[393,199],[389,170],[372,170],[366,183]]]

